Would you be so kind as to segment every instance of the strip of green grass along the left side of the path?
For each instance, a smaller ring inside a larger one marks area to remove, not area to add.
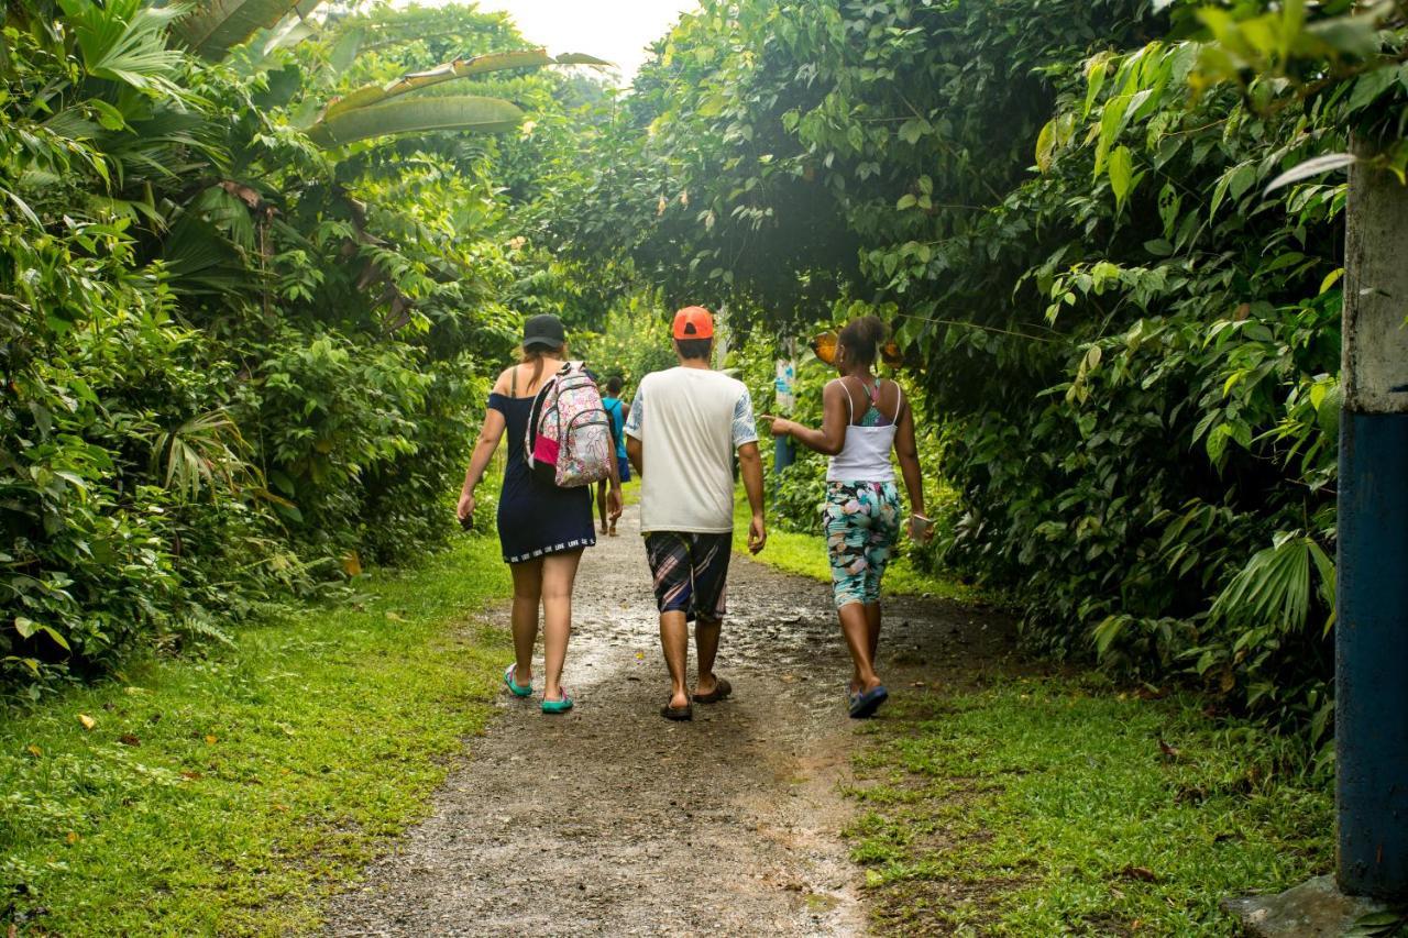
[[[8,714],[0,921],[13,904],[39,934],[315,925],[321,900],[425,814],[511,654],[505,631],[466,625],[508,593],[493,537],[359,589],[242,628],[208,659],[137,662]]]

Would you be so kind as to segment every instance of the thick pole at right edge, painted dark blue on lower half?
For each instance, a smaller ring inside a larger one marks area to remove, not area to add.
[[[1362,156],[1371,152],[1360,149]],[[1408,187],[1350,168],[1335,624],[1336,877],[1408,899]]]

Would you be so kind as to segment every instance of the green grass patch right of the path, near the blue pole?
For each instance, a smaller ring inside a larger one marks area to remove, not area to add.
[[[849,831],[880,931],[1232,935],[1221,899],[1333,862],[1328,787],[1193,701],[1007,679],[886,717]]]

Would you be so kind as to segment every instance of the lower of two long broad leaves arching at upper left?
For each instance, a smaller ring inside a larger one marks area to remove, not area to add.
[[[515,104],[497,97],[427,97],[325,117],[308,130],[308,138],[318,146],[341,146],[369,137],[438,130],[497,134],[518,127],[522,117]]]

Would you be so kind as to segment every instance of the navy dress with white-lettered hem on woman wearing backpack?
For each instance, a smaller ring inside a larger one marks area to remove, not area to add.
[[[522,563],[549,554],[579,551],[597,542],[591,523],[591,489],[559,489],[539,482],[528,469],[524,434],[532,397],[490,394],[489,406],[504,415],[508,428],[508,468],[498,494],[498,545],[507,563]]]

